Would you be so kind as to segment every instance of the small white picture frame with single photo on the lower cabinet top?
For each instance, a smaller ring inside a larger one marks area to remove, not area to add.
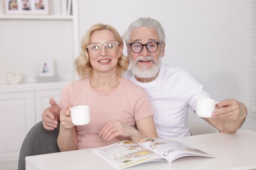
[[[43,60],[40,62],[39,76],[54,76],[54,61]]]

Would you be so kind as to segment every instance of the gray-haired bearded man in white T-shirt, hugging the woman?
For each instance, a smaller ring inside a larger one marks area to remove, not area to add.
[[[139,18],[129,25],[123,35],[131,69],[125,77],[146,90],[154,108],[158,136],[165,139],[188,136],[188,110],[196,110],[198,99],[209,99],[192,75],[179,67],[161,63],[165,53],[165,33],[160,22]],[[58,124],[60,109],[53,99],[51,107],[42,114],[43,126],[52,130]],[[243,103],[224,99],[216,105],[212,118],[203,118],[223,133],[239,129],[247,116]]]

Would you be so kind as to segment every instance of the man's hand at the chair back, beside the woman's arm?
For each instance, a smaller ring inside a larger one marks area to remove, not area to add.
[[[47,130],[53,130],[58,126],[58,120],[60,118],[60,106],[54,101],[53,98],[49,99],[50,107],[43,110],[42,122],[43,127]]]

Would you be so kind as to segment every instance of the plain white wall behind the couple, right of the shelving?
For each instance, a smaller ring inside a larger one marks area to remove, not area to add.
[[[122,35],[139,17],[159,20],[167,38],[165,63],[192,73],[213,99],[235,98],[250,109],[250,0],[80,0],[79,10],[81,36],[96,22]],[[242,128],[256,131],[254,122],[248,115]]]

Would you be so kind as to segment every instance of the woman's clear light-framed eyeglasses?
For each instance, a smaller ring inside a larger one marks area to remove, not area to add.
[[[104,45],[105,50],[107,52],[115,52],[116,51],[116,47],[117,45],[119,45],[118,42],[114,42],[114,41],[110,41],[110,42],[106,42],[105,44],[99,44],[99,43],[93,43],[93,44],[89,44],[89,46],[87,46],[86,48],[92,53],[92,54],[99,54],[102,45]]]

